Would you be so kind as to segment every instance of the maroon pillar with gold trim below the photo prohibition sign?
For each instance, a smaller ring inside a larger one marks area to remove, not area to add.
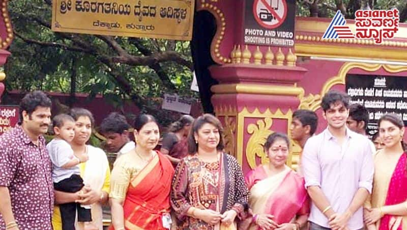
[[[293,111],[304,89],[297,87],[305,68],[296,66],[293,48],[245,45],[243,0],[199,0],[197,10],[207,10],[216,19],[217,31],[209,68],[219,84],[212,86],[212,104],[224,125],[225,149],[247,172],[267,163],[263,145],[272,132],[288,133]],[[231,7],[234,6],[234,7]],[[298,160],[293,144],[289,166]]]

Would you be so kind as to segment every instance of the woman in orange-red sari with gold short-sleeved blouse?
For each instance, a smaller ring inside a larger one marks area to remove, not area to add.
[[[159,151],[158,125],[151,115],[134,121],[136,147],[114,163],[111,173],[110,229],[169,229],[169,191],[174,169]]]

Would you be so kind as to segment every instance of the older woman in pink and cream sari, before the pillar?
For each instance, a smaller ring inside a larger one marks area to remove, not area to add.
[[[253,218],[243,221],[240,229],[297,230],[306,225],[309,198],[304,178],[285,165],[288,146],[285,134],[273,133],[267,138],[264,147],[270,163],[246,175]]]

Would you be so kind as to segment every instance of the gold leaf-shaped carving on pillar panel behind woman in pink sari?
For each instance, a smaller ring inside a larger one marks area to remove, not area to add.
[[[273,125],[273,120],[270,117],[257,120],[257,125],[249,124],[247,133],[251,134],[246,145],[246,158],[250,168],[256,167],[256,156],[260,158],[261,164],[268,162],[268,157],[264,152],[264,144],[267,137],[273,133],[270,127]]]

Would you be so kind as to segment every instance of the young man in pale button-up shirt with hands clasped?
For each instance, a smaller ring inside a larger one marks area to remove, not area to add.
[[[303,150],[311,230],[363,228],[362,205],[371,193],[374,167],[369,140],[346,127],[349,101],[340,91],[325,94],[321,106],[328,127]]]

